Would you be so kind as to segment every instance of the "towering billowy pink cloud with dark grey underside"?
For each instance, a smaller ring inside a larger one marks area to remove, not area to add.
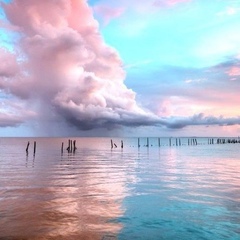
[[[125,86],[121,59],[104,43],[86,1],[15,0],[4,10],[21,29],[22,60],[15,79],[0,81],[2,89],[80,129],[142,124],[149,117]]]

